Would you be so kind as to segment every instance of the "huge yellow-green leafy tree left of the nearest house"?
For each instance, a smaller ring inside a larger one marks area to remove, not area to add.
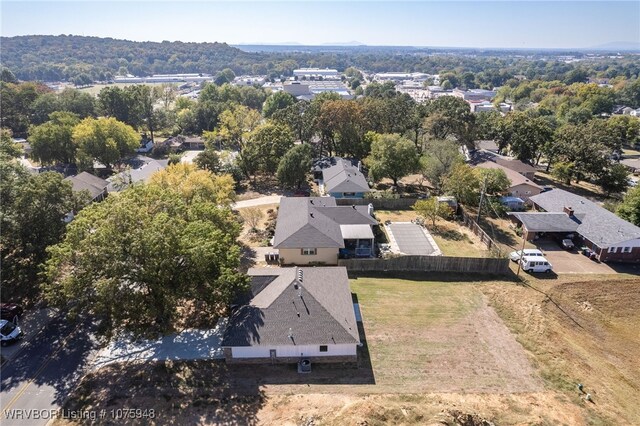
[[[72,317],[94,314],[106,337],[170,332],[185,304],[201,315],[222,313],[247,285],[240,227],[219,205],[214,176],[187,169],[172,166],[157,181],[84,209],[49,251],[48,302]]]

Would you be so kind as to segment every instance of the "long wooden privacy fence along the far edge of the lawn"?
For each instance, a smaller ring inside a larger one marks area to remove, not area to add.
[[[350,272],[470,272],[506,274],[509,259],[492,257],[399,256],[389,259],[340,259],[338,266]]]

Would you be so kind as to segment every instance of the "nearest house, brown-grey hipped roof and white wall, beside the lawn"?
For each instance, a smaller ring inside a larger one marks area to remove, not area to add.
[[[254,268],[222,339],[228,363],[355,362],[360,344],[344,267]]]

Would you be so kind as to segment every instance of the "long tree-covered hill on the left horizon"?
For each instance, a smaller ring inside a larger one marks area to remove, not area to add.
[[[73,35],[1,37],[0,43],[2,65],[22,80],[59,81],[83,72],[102,80],[123,69],[139,76],[216,73],[242,69],[260,59],[226,43],[133,42]]]

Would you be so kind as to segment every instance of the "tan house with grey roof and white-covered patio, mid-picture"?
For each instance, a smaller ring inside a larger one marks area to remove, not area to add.
[[[374,255],[371,206],[338,206],[333,197],[282,197],[273,247],[281,264],[335,265]]]

